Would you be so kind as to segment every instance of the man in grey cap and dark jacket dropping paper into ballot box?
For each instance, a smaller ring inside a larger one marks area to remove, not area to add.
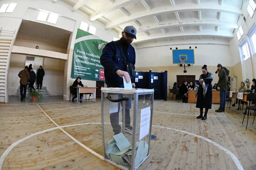
[[[129,83],[130,76],[127,72],[127,64],[135,64],[135,49],[131,45],[134,38],[136,39],[136,29],[133,26],[126,26],[122,31],[122,38],[118,41],[112,41],[104,47],[101,55],[101,65],[104,67],[105,82],[108,87],[123,88],[124,76],[126,82]],[[132,87],[135,88],[135,80],[132,81]],[[125,106],[125,130],[132,133],[133,127],[130,126],[130,108],[132,99],[126,102]],[[118,134],[121,132],[119,125],[119,110],[120,102],[118,103],[118,111],[110,114],[110,122],[113,132]]]

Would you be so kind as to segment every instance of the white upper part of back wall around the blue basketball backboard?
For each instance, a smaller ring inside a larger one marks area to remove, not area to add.
[[[231,54],[229,46],[226,45],[177,45],[143,48],[136,50],[136,67],[157,67],[157,66],[173,66],[172,50],[189,49],[189,46],[197,46],[195,51],[195,64],[203,66],[216,66],[222,63],[223,66],[232,66]]]

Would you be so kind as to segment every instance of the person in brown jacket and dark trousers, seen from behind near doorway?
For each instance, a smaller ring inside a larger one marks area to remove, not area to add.
[[[27,71],[28,67],[21,70],[18,76],[20,77],[20,101],[26,99],[26,91],[27,91],[27,82],[29,81],[29,72]]]

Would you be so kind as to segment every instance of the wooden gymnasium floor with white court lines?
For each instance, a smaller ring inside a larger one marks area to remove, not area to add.
[[[101,102],[0,105],[1,170],[118,170],[102,160]],[[256,123],[234,108],[197,120],[195,104],[154,101],[140,170],[256,170]],[[72,139],[71,139],[72,138]]]

